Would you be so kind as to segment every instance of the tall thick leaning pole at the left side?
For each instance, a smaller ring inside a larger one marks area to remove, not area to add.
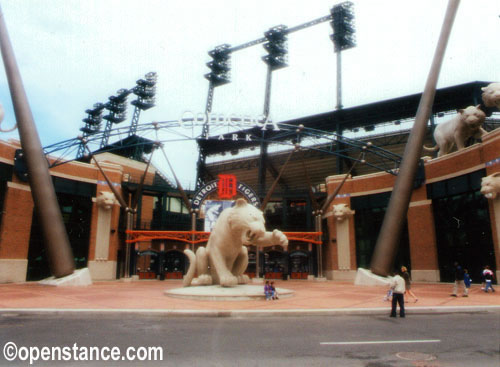
[[[31,195],[42,226],[50,271],[56,278],[60,278],[73,273],[75,262],[1,10],[0,48],[14,105],[23,158],[28,169]]]

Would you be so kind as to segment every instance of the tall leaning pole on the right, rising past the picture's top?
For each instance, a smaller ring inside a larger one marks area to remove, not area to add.
[[[408,137],[408,142],[406,143],[403,159],[399,166],[399,174],[396,178],[394,189],[392,190],[389,206],[382,223],[382,228],[380,229],[377,244],[375,245],[370,267],[371,271],[377,275],[388,275],[394,264],[401,230],[408,212],[413,180],[422,152],[422,145],[427,130],[427,121],[429,121],[432,112],[432,104],[434,95],[436,94],[439,71],[443,63],[446,45],[459,3],[460,0],[450,0],[448,2],[448,8],[441,28],[434,59],[417,109],[415,123]]]

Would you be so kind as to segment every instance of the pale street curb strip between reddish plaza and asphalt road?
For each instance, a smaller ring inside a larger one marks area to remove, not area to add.
[[[282,310],[164,310],[164,309],[91,309],[91,308],[0,308],[0,317],[14,314],[52,315],[142,315],[163,317],[291,317],[291,316],[346,316],[346,315],[386,315],[389,307],[376,308],[331,308],[331,309],[282,309]],[[500,313],[500,306],[450,306],[412,307],[408,315],[443,313]]]

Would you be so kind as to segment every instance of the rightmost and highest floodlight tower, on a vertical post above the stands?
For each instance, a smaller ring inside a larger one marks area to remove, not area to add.
[[[337,54],[337,109],[342,109],[342,58],[341,52],[356,47],[354,4],[350,1],[335,5],[330,13],[334,51]]]

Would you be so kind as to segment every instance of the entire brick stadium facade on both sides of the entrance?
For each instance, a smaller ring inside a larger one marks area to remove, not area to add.
[[[48,275],[30,187],[14,170],[15,151],[19,148],[17,141],[0,141],[1,283],[37,280]],[[440,158],[425,159],[425,181],[413,191],[395,264],[409,267],[413,280],[448,281],[454,261],[470,268],[475,280],[479,280],[477,274],[484,265],[500,268],[500,198],[488,200],[479,192],[481,178],[500,171],[498,152],[500,129],[487,134],[480,144]],[[138,182],[146,164],[109,153],[97,157],[113,185],[126,200],[131,200],[130,183]],[[154,180],[155,171],[154,167],[149,169],[147,182]],[[50,172],[77,267],[87,266],[94,280],[122,277],[124,213],[116,201],[109,211],[99,206],[99,193],[110,192],[102,174],[94,164],[76,161],[51,168]],[[343,175],[326,178],[328,193],[342,178]],[[395,176],[385,172],[355,176],[346,181],[332,205],[347,204],[355,213],[342,226],[332,216],[327,219],[322,269],[328,279],[350,280],[358,267],[369,267],[394,181]],[[161,210],[170,210],[172,197],[169,195],[167,192],[142,195],[140,216],[134,228],[153,229],[151,223],[155,221],[159,204],[163,205]],[[178,197],[176,200],[175,206],[182,209]],[[185,216],[188,222],[184,227],[189,226],[189,214]],[[176,224],[180,223],[174,221],[177,217],[169,218],[169,229],[189,230]],[[275,226],[270,218],[268,223],[271,223],[269,227]],[[172,274],[182,275],[186,269],[182,254],[185,247],[171,241],[138,243],[132,249],[136,260],[131,264],[131,273],[135,274],[141,267],[142,271],[148,270],[144,268],[156,258],[157,262],[158,259],[165,262],[165,269],[172,267]],[[317,261],[313,258],[317,256],[314,248],[315,245],[303,243],[291,246],[289,266],[294,261],[292,251],[300,250],[309,256],[308,273],[312,275]],[[158,272],[151,273],[159,276]]]

